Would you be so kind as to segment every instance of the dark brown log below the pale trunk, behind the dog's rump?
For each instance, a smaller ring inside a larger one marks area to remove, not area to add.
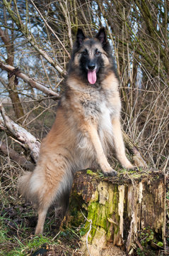
[[[15,161],[17,164],[19,164],[25,169],[33,171],[33,169],[35,168],[34,164],[32,164],[27,159],[25,159],[25,157],[18,154],[15,150],[6,146],[6,144],[1,141],[0,141],[0,151],[2,151],[6,156],[9,156],[10,159],[12,159],[13,161]]]

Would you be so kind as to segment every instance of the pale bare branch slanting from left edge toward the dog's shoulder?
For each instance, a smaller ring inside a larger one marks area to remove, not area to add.
[[[54,92],[54,91],[48,89],[47,87],[45,87],[45,85],[42,85],[40,82],[37,82],[33,78],[29,78],[28,75],[21,73],[21,71],[19,71],[18,68],[14,68],[11,65],[7,65],[7,64],[3,63],[1,60],[0,60],[0,68],[2,70],[6,70],[7,72],[15,73],[15,75],[18,78],[22,78],[25,82],[28,82],[28,84],[31,87],[34,87],[34,88],[40,90],[41,92],[45,92],[46,95],[49,95],[49,96],[52,95],[55,97],[56,100],[59,100],[60,96],[57,92]]]

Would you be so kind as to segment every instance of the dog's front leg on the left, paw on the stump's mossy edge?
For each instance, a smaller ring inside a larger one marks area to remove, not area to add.
[[[116,176],[117,172],[114,169],[112,169],[103,151],[103,146],[98,136],[97,127],[95,127],[93,124],[88,125],[87,132],[91,138],[91,142],[95,149],[98,164],[100,165],[100,168],[102,169],[103,174],[105,174],[106,176]]]

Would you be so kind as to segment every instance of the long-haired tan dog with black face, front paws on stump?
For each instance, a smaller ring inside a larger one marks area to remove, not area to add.
[[[35,234],[43,233],[53,203],[66,213],[76,171],[97,161],[105,176],[116,176],[107,161],[111,148],[125,169],[134,168],[125,155],[118,87],[105,28],[95,38],[78,28],[56,120],[42,140],[35,170],[19,180],[21,194],[37,206]]]

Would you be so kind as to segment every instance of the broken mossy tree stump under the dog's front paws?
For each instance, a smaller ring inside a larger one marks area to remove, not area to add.
[[[115,246],[132,255],[136,246],[142,249],[141,240],[149,239],[155,245],[163,242],[164,174],[123,170],[112,178],[91,170],[78,171],[71,192],[69,223],[83,225],[84,255],[123,255],[115,252]]]

